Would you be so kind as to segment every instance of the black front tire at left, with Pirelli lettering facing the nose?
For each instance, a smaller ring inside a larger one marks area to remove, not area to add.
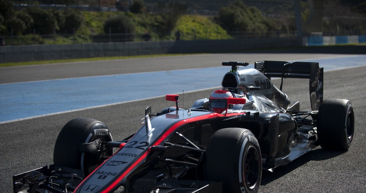
[[[106,152],[85,153],[79,151],[80,144],[93,141],[112,141],[108,127],[94,119],[76,118],[70,120],[62,128],[53,150],[53,163],[82,170],[87,176],[102,162],[113,154],[113,149]]]

